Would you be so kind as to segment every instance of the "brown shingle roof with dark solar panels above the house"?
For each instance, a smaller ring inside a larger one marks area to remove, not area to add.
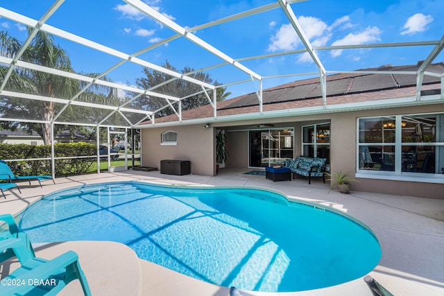
[[[379,68],[361,69],[358,71],[417,71],[417,65],[396,66],[384,65]],[[444,63],[432,64],[429,72],[443,73]],[[339,73],[326,77],[327,104],[357,103],[416,96],[416,75],[385,73]],[[441,78],[424,76],[422,92],[441,89]],[[377,96],[375,96],[377,92]],[[433,93],[433,92],[432,92]],[[316,107],[323,105],[321,83],[319,78],[309,78],[278,85],[262,92],[263,111],[287,110],[298,107]],[[213,116],[211,105],[194,110],[182,111],[182,121]],[[246,94],[237,98],[218,102],[217,115],[248,114],[259,112],[257,94]],[[177,121],[176,115],[155,119],[156,123]],[[146,123],[149,123],[146,122]]]

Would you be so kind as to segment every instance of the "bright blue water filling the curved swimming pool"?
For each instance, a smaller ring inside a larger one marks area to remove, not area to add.
[[[243,290],[341,284],[381,257],[377,238],[352,218],[258,189],[95,184],[47,195],[21,216],[33,243],[117,241],[142,259]]]

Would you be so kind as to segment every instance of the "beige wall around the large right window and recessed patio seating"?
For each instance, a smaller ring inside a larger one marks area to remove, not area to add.
[[[314,114],[309,116],[287,117],[287,123],[275,124],[294,128],[295,149],[294,155],[302,155],[302,126],[330,121],[330,166],[332,171],[350,172],[350,176],[355,177],[357,167],[357,119],[371,116],[390,116],[398,114],[421,114],[444,112],[444,104],[421,105],[415,107],[397,107],[375,110],[363,110],[356,112],[337,112],[331,114]],[[282,120],[282,119],[278,119]],[[273,121],[275,122],[275,121]],[[239,128],[246,128],[244,122]],[[234,129],[233,127],[232,129]],[[230,155],[236,155],[233,160],[239,166],[248,166],[248,132],[229,132],[237,134],[233,137],[233,142],[237,143],[229,149]],[[246,145],[244,143],[247,143]],[[244,160],[241,157],[245,157]],[[230,167],[235,167],[230,163]],[[444,198],[444,184],[434,184],[429,182],[409,182],[399,180],[370,179],[355,177],[359,183],[353,184],[353,189],[357,191],[368,191],[375,193],[386,193],[396,195],[410,195],[423,198]]]

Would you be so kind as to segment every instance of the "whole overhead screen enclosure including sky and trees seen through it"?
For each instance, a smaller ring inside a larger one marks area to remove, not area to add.
[[[284,82],[316,77],[324,110],[330,74],[389,76],[377,67],[419,62],[417,71],[397,71],[416,76],[414,101],[422,100],[427,76],[443,85],[444,73],[428,71],[443,61],[438,1],[418,11],[410,1],[384,11],[355,1],[174,2],[1,1],[0,120],[44,126],[51,159],[55,128],[87,127],[99,160],[103,144],[110,156],[113,135],[127,155],[131,132],[154,127],[164,114],[176,116],[170,124],[187,124],[182,111],[198,105],[212,106],[213,116],[202,119],[211,123],[220,120],[220,100],[253,94],[255,116],[270,116],[262,91]],[[56,56],[48,41],[64,55],[46,58]]]

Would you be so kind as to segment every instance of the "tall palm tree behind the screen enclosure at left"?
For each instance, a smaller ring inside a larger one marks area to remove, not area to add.
[[[31,31],[28,31],[31,33]],[[11,37],[6,32],[0,32],[0,52],[9,58],[15,57],[23,44]],[[39,31],[31,44],[24,51],[21,60],[32,64],[39,64],[44,67],[58,69],[67,72],[73,72],[71,60],[67,51],[60,48],[52,35]],[[8,71],[6,67],[0,67],[0,78],[5,78]],[[102,78],[106,79],[106,78]],[[28,94],[37,94],[49,98],[72,98],[78,94],[80,89],[85,87],[85,82],[79,82],[72,78],[44,73],[33,69],[24,69],[15,67],[10,78],[6,82],[5,89]],[[92,103],[110,103],[110,101],[119,101],[117,98],[117,90],[111,87],[103,87],[93,84],[85,92],[80,94],[79,99]],[[9,123],[3,121],[3,128],[14,129],[17,125],[26,125],[27,132],[37,132],[40,134],[45,144],[51,143],[51,121],[54,116],[62,110],[61,104],[51,101],[31,101],[22,98],[1,98],[0,112],[5,117],[12,119],[40,119],[45,123]],[[74,121],[80,118],[91,117],[92,114],[97,115],[97,111],[91,112],[87,108],[83,108],[82,112],[73,112],[69,106],[64,112],[65,121]],[[103,110],[99,111],[103,112]],[[109,111],[107,111],[109,112]],[[103,115],[104,116],[104,115]]]

